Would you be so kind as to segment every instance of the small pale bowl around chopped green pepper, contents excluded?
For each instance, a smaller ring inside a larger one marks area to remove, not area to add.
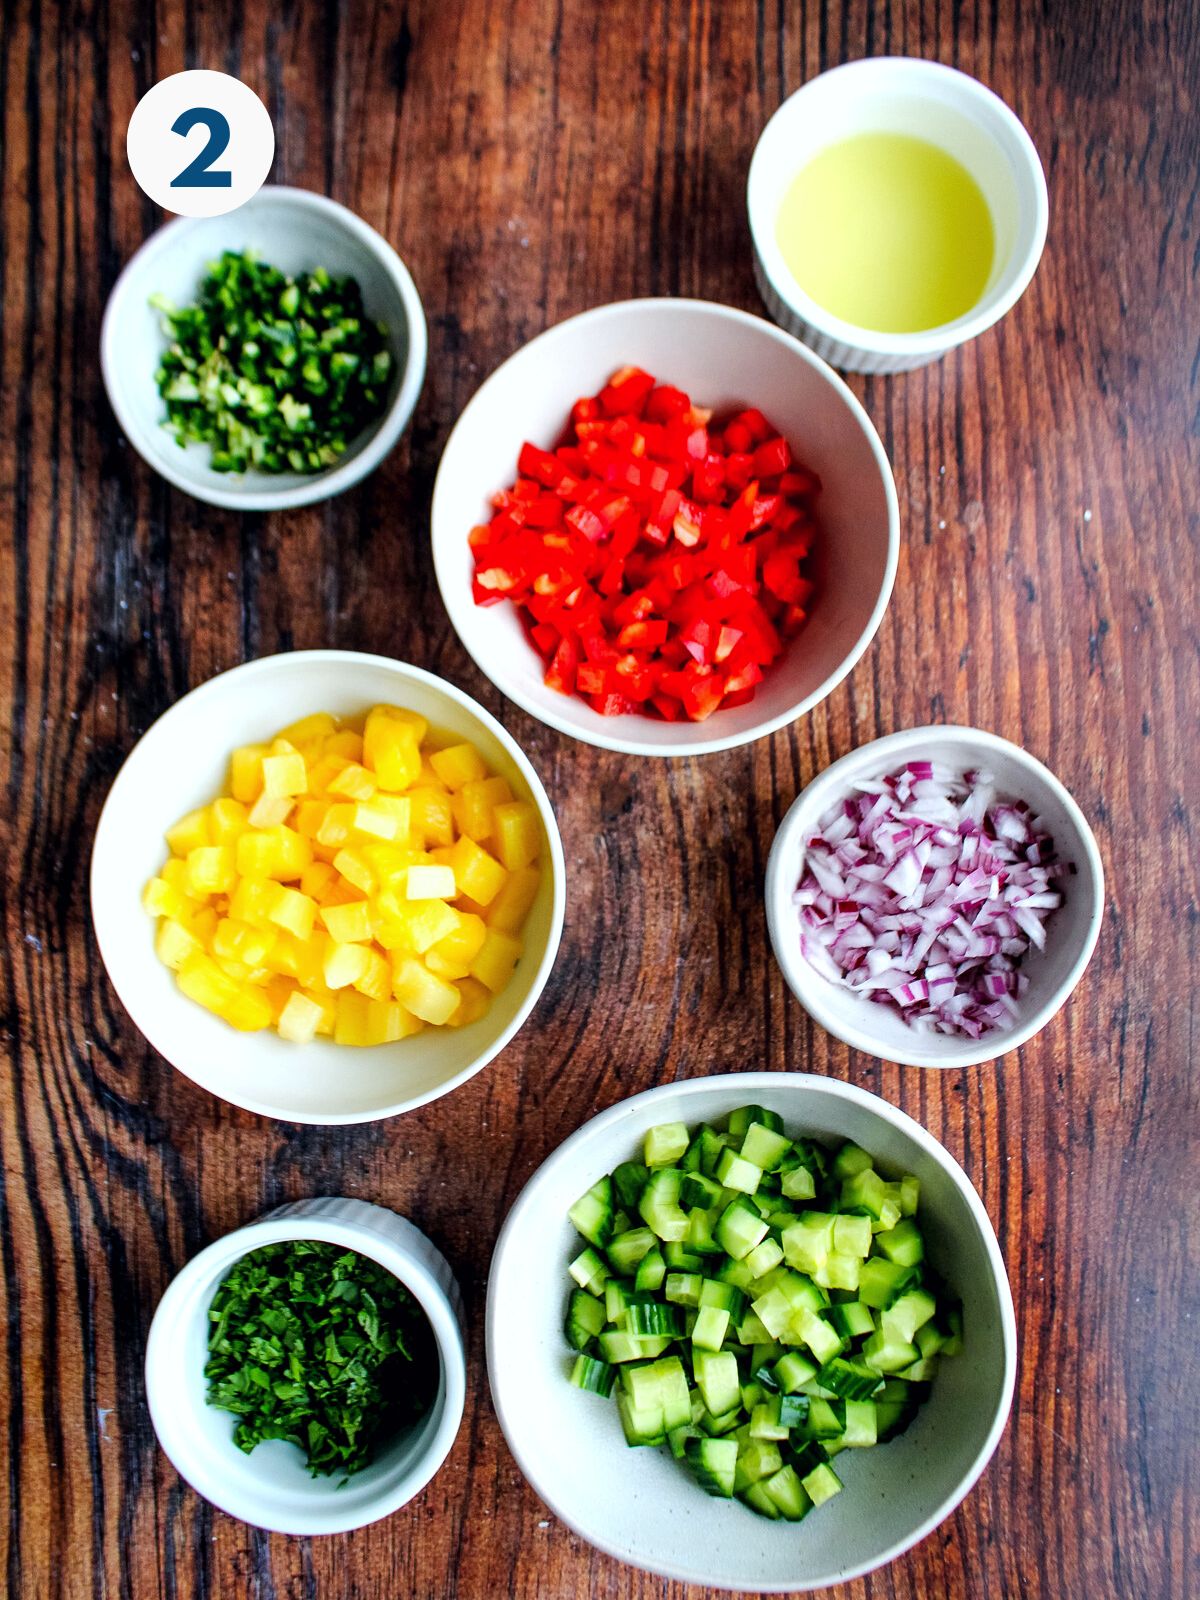
[[[352,275],[368,315],[387,323],[394,358],[387,410],[325,472],[214,472],[208,445],[181,448],[163,427],[166,408],[154,374],[166,347],[150,294],[194,301],[205,267],[222,250],[253,250],[282,272],[326,267]],[[330,499],[374,472],[408,426],[426,378],[426,317],[403,261],[344,205],[307,189],[266,184],[224,216],[176,218],[152,234],[117,278],[101,325],[101,371],[109,402],[133,448],[168,483],[210,506],[290,510]]]

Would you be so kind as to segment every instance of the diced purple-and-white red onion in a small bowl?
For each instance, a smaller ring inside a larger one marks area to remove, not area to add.
[[[987,773],[909,762],[854,784],[806,842],[800,949],[912,1027],[979,1038],[1018,1014],[1021,962],[1045,947],[1069,870]]]

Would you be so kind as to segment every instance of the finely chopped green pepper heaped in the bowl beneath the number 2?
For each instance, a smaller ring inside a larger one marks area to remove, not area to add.
[[[162,294],[171,341],[155,374],[181,446],[211,446],[216,472],[322,472],[387,405],[387,328],[355,278],[290,278],[253,254],[210,262],[195,306]]]

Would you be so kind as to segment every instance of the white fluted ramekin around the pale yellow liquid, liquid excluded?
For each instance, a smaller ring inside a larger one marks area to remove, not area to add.
[[[776,234],[782,197],[819,150],[859,133],[904,133],[949,150],[992,213],[995,261],[963,317],[922,333],[875,333],[830,315],[800,288]],[[974,339],[1010,310],[1042,259],[1046,176],[1024,123],[976,78],[936,61],[877,56],[834,67],[797,90],[763,128],[746,190],[758,290],[774,320],[830,365],[902,373]]]

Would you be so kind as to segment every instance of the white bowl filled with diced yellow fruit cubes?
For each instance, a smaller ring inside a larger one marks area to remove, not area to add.
[[[499,722],[338,650],[186,694],[117,774],[91,858],[141,1032],[288,1122],[392,1117],[478,1072],[538,1002],[563,907],[550,802]]]

